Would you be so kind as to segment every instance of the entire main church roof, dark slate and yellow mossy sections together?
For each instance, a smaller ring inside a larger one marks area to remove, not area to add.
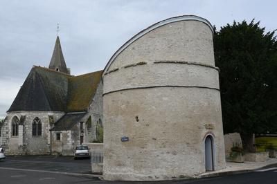
[[[34,66],[10,111],[87,111],[102,71],[72,76]]]

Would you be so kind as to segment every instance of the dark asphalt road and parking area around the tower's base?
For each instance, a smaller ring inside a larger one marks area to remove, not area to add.
[[[89,173],[90,160],[73,160],[71,157],[19,156],[0,160],[1,183],[161,183],[161,184],[277,184],[277,165],[256,172],[179,181],[121,182],[100,181],[83,173]],[[66,174],[71,173],[71,174]],[[73,175],[72,175],[73,173]],[[82,176],[80,176],[82,175]]]

